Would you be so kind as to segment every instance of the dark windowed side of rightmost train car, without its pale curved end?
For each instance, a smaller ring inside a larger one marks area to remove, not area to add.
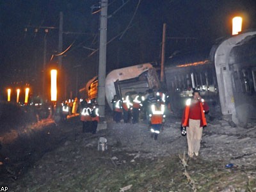
[[[256,120],[256,35],[246,36],[228,60],[236,114],[242,122]]]

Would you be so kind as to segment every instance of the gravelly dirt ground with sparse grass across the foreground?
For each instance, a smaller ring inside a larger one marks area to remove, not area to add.
[[[74,118],[45,129],[27,143],[31,150],[17,147],[19,156],[26,154],[16,161],[24,171],[17,166],[17,174],[11,164],[0,183],[10,191],[120,191],[130,185],[129,191],[256,191],[255,131],[225,120],[209,122],[200,158],[184,159],[184,166],[180,157],[187,150],[186,137],[180,135],[177,118],[168,119],[157,141],[143,122],[109,120],[108,129],[92,135],[82,133]],[[104,152],[97,150],[100,137],[108,140]],[[225,168],[230,163],[234,166]]]

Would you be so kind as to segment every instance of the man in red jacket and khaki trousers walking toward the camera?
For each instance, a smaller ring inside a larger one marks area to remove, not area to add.
[[[188,156],[191,158],[197,157],[199,154],[203,127],[207,125],[205,113],[208,113],[208,111],[207,103],[200,97],[198,91],[194,91],[193,99],[186,101],[182,116],[182,127],[187,129]]]

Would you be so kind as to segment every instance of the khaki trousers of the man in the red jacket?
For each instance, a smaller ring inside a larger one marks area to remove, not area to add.
[[[200,120],[189,118],[189,127],[187,127],[188,155],[193,156],[200,150],[203,127],[200,127]]]

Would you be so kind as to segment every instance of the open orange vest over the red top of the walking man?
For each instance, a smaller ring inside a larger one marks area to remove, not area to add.
[[[201,111],[200,127],[203,127],[203,126],[207,125],[207,122],[206,122],[206,118],[205,118],[205,115],[204,115],[204,106],[203,106],[202,102],[200,102],[199,104],[200,104],[200,111]],[[190,105],[191,105],[191,99],[188,99],[186,101],[186,108],[185,108],[185,111],[184,111],[184,118],[182,120],[182,126],[183,127],[188,127],[189,126]]]

